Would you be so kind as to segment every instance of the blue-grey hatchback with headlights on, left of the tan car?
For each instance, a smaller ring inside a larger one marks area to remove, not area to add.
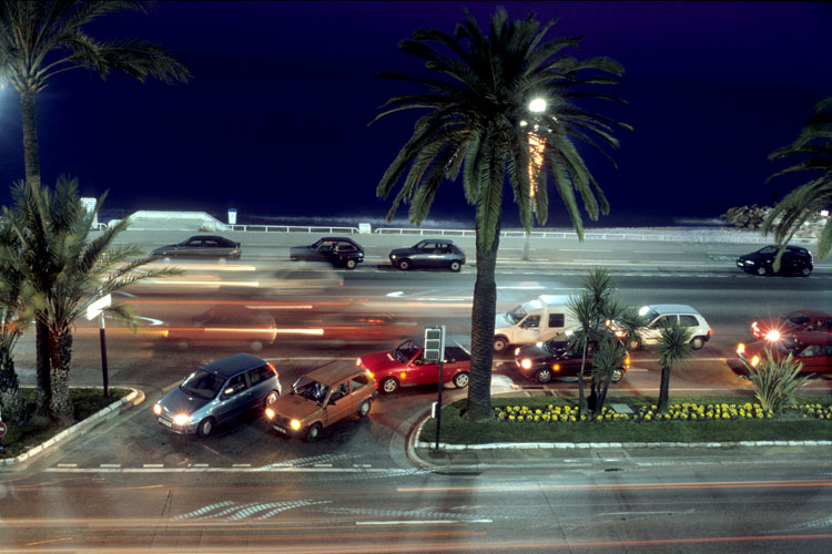
[[[181,434],[207,437],[217,424],[247,410],[263,409],[281,396],[274,366],[236,353],[204,366],[153,404],[162,427]]]

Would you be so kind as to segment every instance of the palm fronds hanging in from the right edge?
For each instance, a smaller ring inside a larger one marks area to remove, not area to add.
[[[832,96],[826,96],[814,106],[814,115],[806,121],[800,136],[790,145],[772,152],[769,160],[793,160],[797,163],[770,176],[767,182],[780,175],[801,173],[810,181],[780,201],[769,212],[762,224],[763,234],[774,230],[774,242],[780,246],[774,269],[779,269],[785,245],[801,225],[810,217],[832,204]],[[825,257],[832,249],[832,218],[818,238],[818,256]]]

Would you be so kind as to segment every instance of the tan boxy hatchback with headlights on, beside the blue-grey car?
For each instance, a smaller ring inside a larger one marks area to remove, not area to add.
[[[313,442],[325,427],[353,413],[359,418],[369,413],[375,392],[375,379],[366,370],[324,367],[297,379],[290,394],[270,403],[266,418],[275,431]]]

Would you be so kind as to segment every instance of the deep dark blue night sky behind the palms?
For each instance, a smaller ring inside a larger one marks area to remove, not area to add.
[[[414,30],[453,32],[467,7],[487,29],[496,2],[159,2],[149,16],[109,16],[100,39],[158,42],[193,73],[189,84],[106,81],[74,70],[38,96],[42,177],[77,176],[110,194],[105,214],[189,209],[240,220],[355,218],[381,223],[375,187],[409,137],[417,111],[367,126],[422,74],[397,43]],[[802,181],[765,184],[767,156],[790,143],[832,94],[832,3],[508,2],[510,19],[558,19],[548,38],[585,35],[579,59],[623,64],[587,104],[626,121],[615,170],[580,148],[611,203],[592,226],[670,224],[742,204],[771,204]],[[0,90],[0,178],[23,177],[19,100]],[[554,191],[552,191],[554,194]],[[568,225],[551,198],[549,226]],[[8,204],[8,187],[0,203]],[[398,215],[406,216],[407,206]],[[470,226],[461,182],[443,184],[429,222]],[[506,189],[505,225],[516,223]],[[588,223],[588,222],[585,222]],[[589,225],[588,225],[589,226]]]

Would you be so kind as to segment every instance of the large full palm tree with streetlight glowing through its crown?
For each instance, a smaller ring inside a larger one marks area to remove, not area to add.
[[[467,10],[465,16],[454,35],[422,29],[399,43],[404,52],[424,60],[432,75],[379,75],[408,81],[425,90],[392,98],[373,121],[403,110],[428,112],[416,121],[413,135],[378,184],[378,196],[386,198],[404,179],[387,220],[405,202],[410,204],[410,223],[420,225],[439,184],[446,178],[456,181],[460,171],[465,197],[475,206],[477,278],[466,417],[483,421],[494,417],[490,381],[497,302],[495,268],[506,176],[528,232],[532,215],[540,224],[546,223],[546,174],[551,175],[582,240],[584,225],[575,192],[580,194],[592,219],[599,212],[606,214],[609,204],[572,140],[591,145],[609,158],[601,144],[618,146],[612,127],[631,127],[572,104],[572,100],[586,98],[618,101],[588,86],[616,82],[605,73],[616,76],[623,73],[621,65],[608,58],[578,61],[560,53],[565,48],[576,47],[581,38],[544,41],[555,21],[540,28],[534,13],[509,22],[506,11],[498,8],[491,17],[489,34],[483,32]],[[538,117],[535,131],[536,140],[546,144],[539,170],[529,152],[529,125],[522,124],[527,123],[527,106],[535,98],[545,98],[551,106],[549,113]]]

